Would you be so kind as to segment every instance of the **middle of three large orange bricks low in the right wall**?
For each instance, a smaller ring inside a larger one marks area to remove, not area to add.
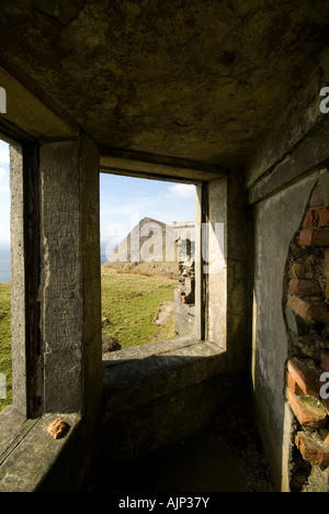
[[[306,394],[297,396],[290,389],[286,398],[302,426],[308,428],[324,428],[326,426],[328,414],[318,399]]]

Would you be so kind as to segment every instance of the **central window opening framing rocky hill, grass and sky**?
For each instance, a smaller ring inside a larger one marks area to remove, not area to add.
[[[194,335],[195,186],[101,174],[103,354]]]

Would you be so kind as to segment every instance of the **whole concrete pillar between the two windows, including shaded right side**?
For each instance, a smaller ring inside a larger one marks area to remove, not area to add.
[[[42,145],[41,179],[42,401],[83,412],[101,391],[97,148],[87,137]]]

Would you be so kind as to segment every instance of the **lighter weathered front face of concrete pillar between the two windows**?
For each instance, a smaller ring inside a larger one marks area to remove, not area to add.
[[[46,412],[81,412],[82,245],[79,143],[41,148],[41,323]],[[56,179],[55,179],[56,177]]]

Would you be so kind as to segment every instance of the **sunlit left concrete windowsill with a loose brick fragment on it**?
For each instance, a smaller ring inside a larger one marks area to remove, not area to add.
[[[60,439],[47,433],[57,417],[70,426]],[[80,414],[58,413],[26,420],[7,407],[0,414],[0,492],[37,491],[80,422]]]

